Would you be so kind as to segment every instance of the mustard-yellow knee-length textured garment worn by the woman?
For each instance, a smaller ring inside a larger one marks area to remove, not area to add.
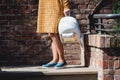
[[[39,0],[37,33],[58,33],[58,24],[69,9],[68,0]]]

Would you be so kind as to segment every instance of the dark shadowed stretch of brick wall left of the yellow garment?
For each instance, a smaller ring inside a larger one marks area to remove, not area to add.
[[[46,35],[36,34],[36,12],[37,0],[0,1],[1,65],[40,65],[52,57]]]

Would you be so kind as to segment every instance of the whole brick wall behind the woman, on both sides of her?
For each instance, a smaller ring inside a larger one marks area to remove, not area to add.
[[[41,65],[52,58],[50,39],[46,34],[36,33],[38,1],[0,1],[1,65]],[[82,33],[85,33],[87,17],[100,0],[69,1],[71,15],[78,20]],[[112,1],[114,0],[104,1],[94,13],[111,13]],[[68,64],[80,64],[79,55],[79,44],[65,45],[65,58]]]

